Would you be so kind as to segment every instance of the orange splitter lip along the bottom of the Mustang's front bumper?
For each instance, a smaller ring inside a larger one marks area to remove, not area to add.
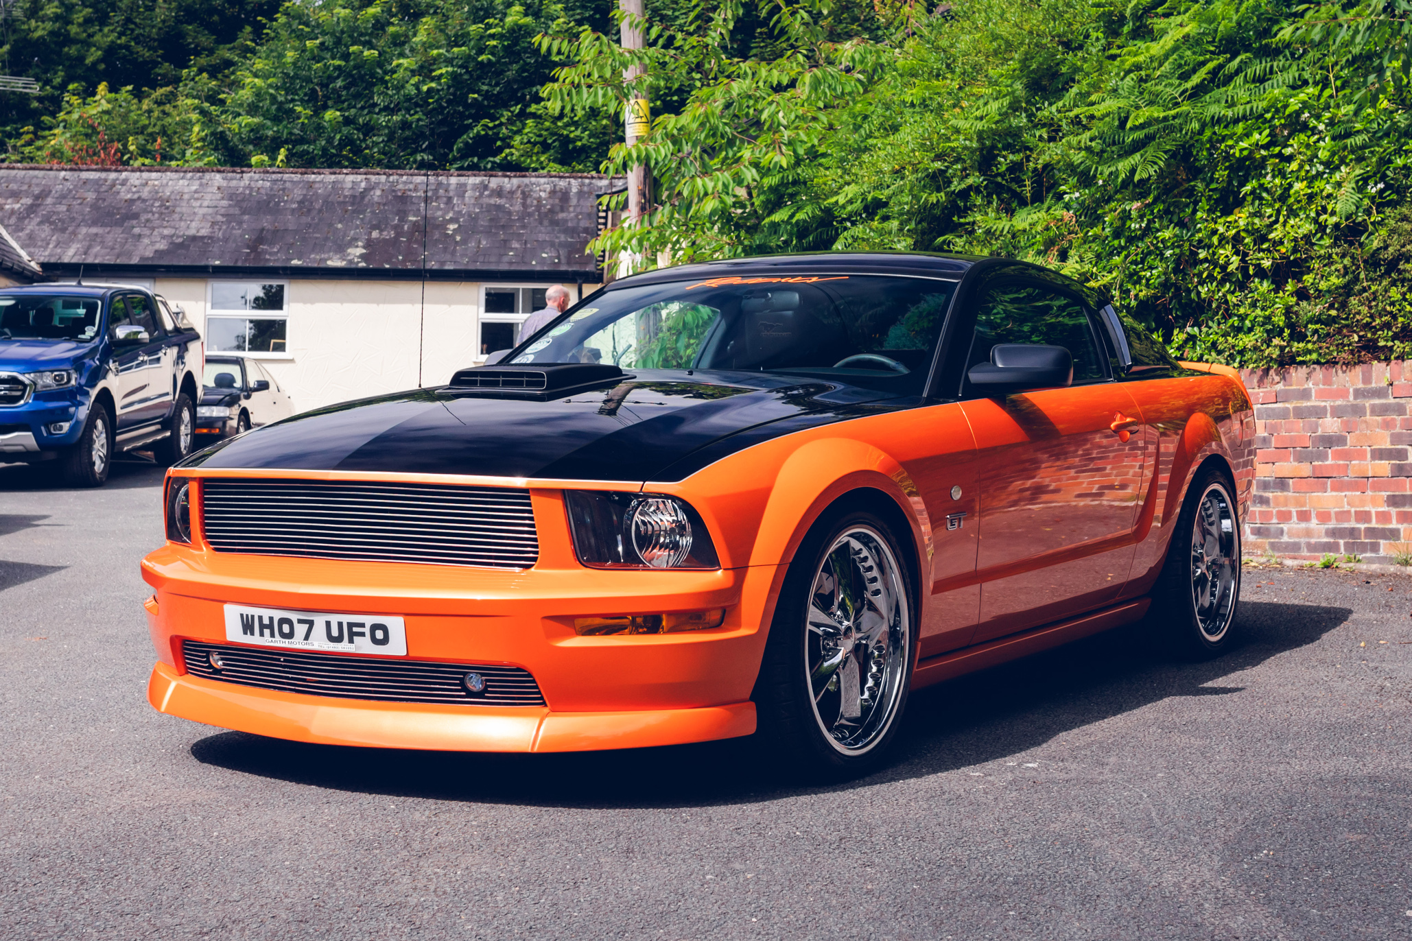
[[[624,712],[336,700],[219,683],[158,663],[147,700],[168,715],[321,745],[446,752],[592,752],[738,738],[755,704]]]

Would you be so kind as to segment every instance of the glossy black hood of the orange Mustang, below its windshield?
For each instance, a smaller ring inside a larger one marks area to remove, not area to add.
[[[674,481],[778,435],[921,403],[833,381],[638,370],[546,402],[450,387],[346,402],[182,466]]]

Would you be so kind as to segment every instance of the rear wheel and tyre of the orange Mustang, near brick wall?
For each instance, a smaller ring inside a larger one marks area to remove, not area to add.
[[[1166,653],[1207,660],[1231,649],[1240,563],[1236,485],[1223,468],[1207,464],[1186,492],[1152,591],[1151,618]]]

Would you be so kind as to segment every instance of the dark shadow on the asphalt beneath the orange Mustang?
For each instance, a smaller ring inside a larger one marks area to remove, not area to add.
[[[1348,608],[1244,601],[1241,643],[1204,663],[1148,653],[1144,625],[1087,638],[918,691],[892,763],[844,783],[801,786],[762,763],[748,739],[565,755],[486,755],[306,745],[219,732],[192,756],[233,772],[330,790],[544,807],[699,807],[868,787],[1022,753],[1173,696],[1228,696],[1223,677],[1316,642]]]

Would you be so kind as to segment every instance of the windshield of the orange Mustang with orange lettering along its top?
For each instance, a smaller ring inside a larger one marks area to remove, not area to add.
[[[748,370],[921,394],[955,289],[881,275],[710,278],[592,298],[511,363]]]

